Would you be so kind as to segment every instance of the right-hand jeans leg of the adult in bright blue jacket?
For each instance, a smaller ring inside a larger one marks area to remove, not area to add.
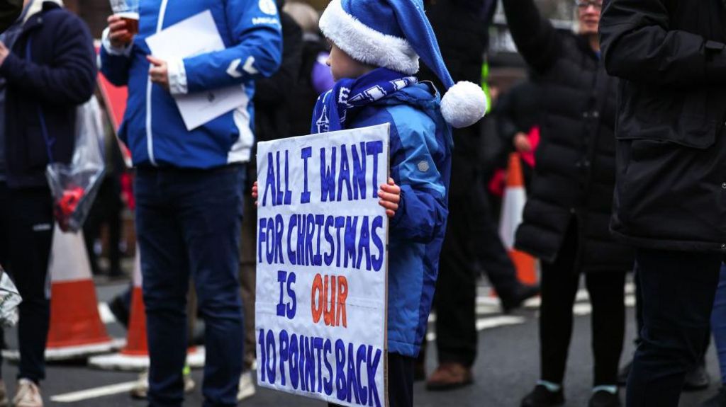
[[[205,322],[205,406],[236,406],[244,327],[239,280],[243,167],[179,174],[179,206]]]

